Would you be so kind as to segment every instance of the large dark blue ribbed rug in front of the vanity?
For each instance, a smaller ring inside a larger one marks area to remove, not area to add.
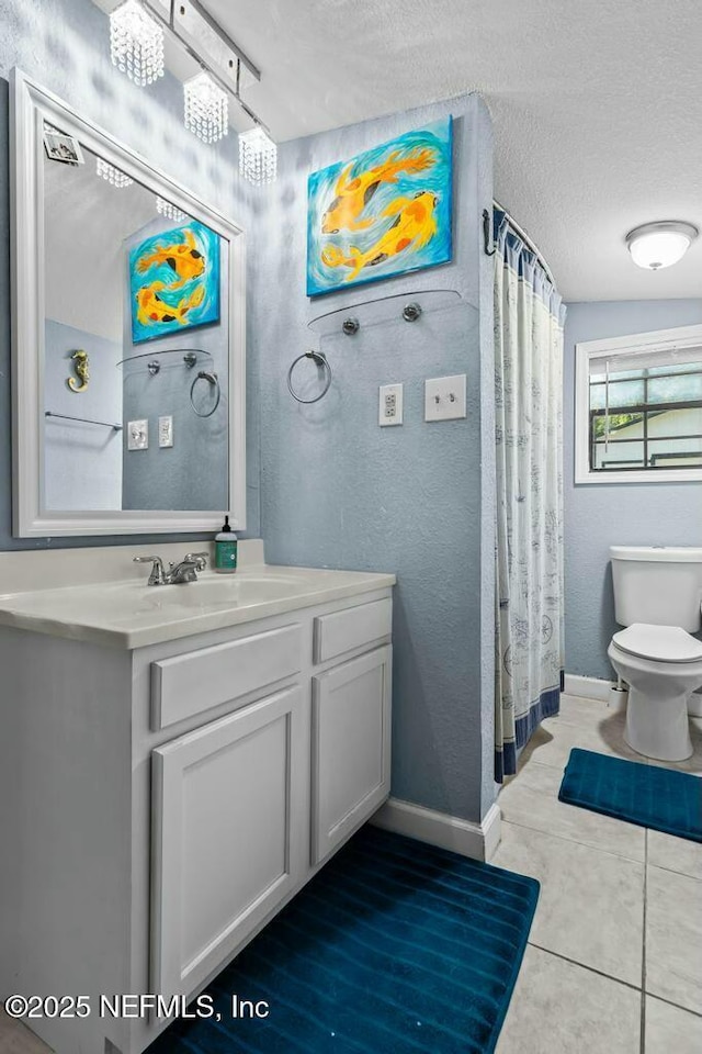
[[[533,878],[364,827],[148,1054],[489,1054],[539,898]],[[231,995],[267,1000],[231,1020]]]

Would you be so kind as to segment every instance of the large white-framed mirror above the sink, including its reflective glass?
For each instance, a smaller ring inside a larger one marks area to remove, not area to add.
[[[12,75],[13,531],[246,526],[245,237]]]

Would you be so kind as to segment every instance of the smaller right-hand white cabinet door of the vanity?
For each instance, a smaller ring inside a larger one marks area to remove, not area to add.
[[[392,651],[313,677],[313,864],[389,794]]]

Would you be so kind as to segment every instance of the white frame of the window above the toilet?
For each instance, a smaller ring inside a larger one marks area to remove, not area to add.
[[[612,352],[631,356],[657,349],[693,348],[702,345],[702,326],[681,326],[679,329],[654,329],[607,340],[586,340],[575,346],[575,482],[576,483],[687,483],[702,481],[702,469],[666,469],[650,472],[646,469],[629,472],[593,472],[589,452],[590,361],[607,358]]]

